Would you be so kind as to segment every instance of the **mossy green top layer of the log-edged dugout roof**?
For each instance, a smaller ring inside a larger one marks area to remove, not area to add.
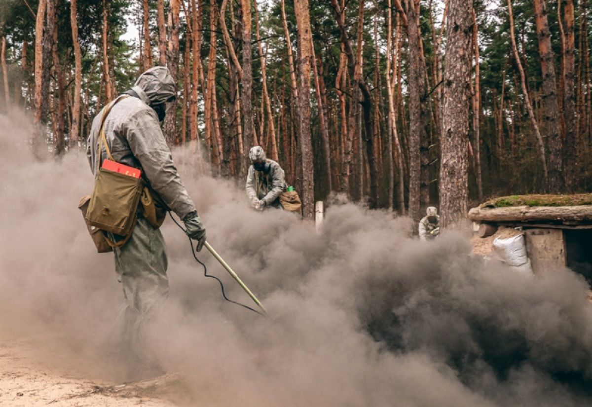
[[[506,208],[507,206],[575,206],[592,205],[592,193],[574,195],[510,195],[493,198],[480,208]]]

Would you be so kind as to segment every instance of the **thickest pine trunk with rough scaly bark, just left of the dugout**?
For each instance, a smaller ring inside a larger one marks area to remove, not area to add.
[[[466,217],[468,210],[469,108],[471,95],[471,0],[450,0],[446,22],[446,54],[440,159],[440,225]]]

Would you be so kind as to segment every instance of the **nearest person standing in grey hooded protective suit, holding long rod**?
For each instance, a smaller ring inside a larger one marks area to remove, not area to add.
[[[175,81],[166,67],[157,66],[142,73],[133,88],[125,93],[126,96],[112,106],[104,122],[111,154],[118,163],[141,169],[151,193],[168,207],[165,209],[175,212],[183,220],[186,233],[198,241],[199,251],[205,243],[205,227],[181,182],[160,129],[160,122],[165,117],[165,102],[175,99]],[[86,150],[93,173],[102,112],[92,121]],[[101,163],[107,158],[104,148],[100,158]],[[165,241],[160,230],[139,211],[131,237],[123,246],[115,247],[114,253],[115,272],[125,297],[119,317],[124,319],[121,345],[139,355],[144,322],[155,314],[168,296]]]

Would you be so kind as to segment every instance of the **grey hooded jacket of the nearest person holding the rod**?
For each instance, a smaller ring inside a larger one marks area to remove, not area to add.
[[[112,107],[105,119],[104,131],[111,155],[118,163],[141,169],[152,189],[183,219],[196,211],[195,204],[181,182],[156,112],[149,106],[175,96],[175,82],[166,67],[156,66],[144,72],[132,89],[139,98],[122,99]],[[86,156],[93,173],[96,170],[102,112],[92,121],[86,147]],[[106,157],[103,148],[101,161]]]

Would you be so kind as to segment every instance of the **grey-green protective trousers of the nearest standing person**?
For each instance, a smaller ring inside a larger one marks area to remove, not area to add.
[[[146,325],[162,308],[169,292],[165,240],[159,229],[139,218],[130,240],[114,253],[115,272],[126,299],[117,324],[120,351],[134,361],[150,363],[144,351]]]

